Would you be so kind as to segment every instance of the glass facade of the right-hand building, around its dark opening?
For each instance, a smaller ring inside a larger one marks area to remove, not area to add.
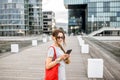
[[[71,5],[87,6],[79,8],[80,10],[84,9],[86,14],[84,17],[86,33],[91,33],[102,27],[120,27],[120,0],[64,0],[64,4],[68,8],[69,14],[72,13],[71,9],[77,9],[69,7]],[[70,18],[71,16],[69,16],[68,22],[69,29],[72,26]]]

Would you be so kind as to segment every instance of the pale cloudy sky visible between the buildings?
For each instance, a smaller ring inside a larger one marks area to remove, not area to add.
[[[43,0],[43,11],[55,12],[56,22],[68,23],[67,9],[64,7],[63,0]]]

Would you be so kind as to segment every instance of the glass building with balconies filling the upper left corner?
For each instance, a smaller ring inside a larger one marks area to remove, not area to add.
[[[0,0],[0,36],[40,34],[42,0]]]

